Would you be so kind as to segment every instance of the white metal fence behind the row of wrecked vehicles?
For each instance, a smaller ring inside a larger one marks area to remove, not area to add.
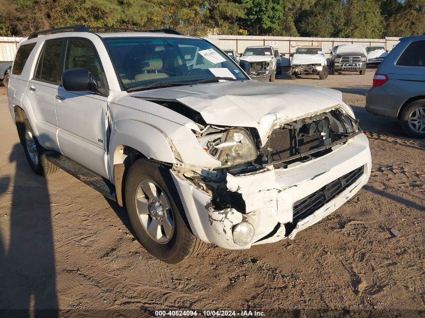
[[[219,39],[221,49],[233,49],[243,53],[247,46],[271,45],[285,53],[282,65],[289,65],[289,54],[295,52],[297,46],[301,45],[321,45],[326,56],[330,55],[330,50],[335,45],[341,44],[361,44],[364,47],[382,45],[386,50],[391,51],[394,45],[399,42],[399,38],[385,39],[344,39],[344,38],[301,38],[301,37],[272,37],[272,36],[239,36],[239,35],[209,35],[208,38]]]

